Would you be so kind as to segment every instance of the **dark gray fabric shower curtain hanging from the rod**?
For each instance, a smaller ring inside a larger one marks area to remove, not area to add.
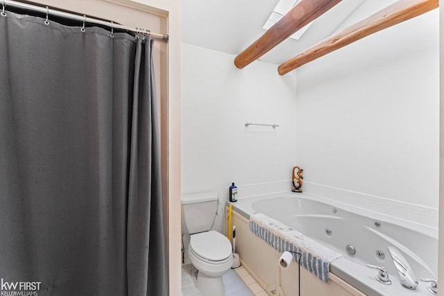
[[[1,292],[167,295],[153,41],[80,26],[0,16]]]

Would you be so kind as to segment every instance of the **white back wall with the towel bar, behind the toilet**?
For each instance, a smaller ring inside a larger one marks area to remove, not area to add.
[[[234,67],[234,55],[182,43],[182,193],[291,179],[296,165],[296,73]],[[244,123],[278,123],[279,128]],[[288,187],[289,188],[289,187]],[[242,189],[239,188],[239,195]]]

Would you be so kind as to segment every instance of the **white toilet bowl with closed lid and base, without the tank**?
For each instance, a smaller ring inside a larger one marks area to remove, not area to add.
[[[224,296],[222,276],[230,270],[233,256],[231,243],[219,232],[192,234],[189,259],[198,270],[196,287],[203,296]]]

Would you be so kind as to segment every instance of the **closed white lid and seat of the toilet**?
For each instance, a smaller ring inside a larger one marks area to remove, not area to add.
[[[232,256],[228,238],[214,230],[191,235],[189,247],[194,254],[210,261],[223,261]]]

